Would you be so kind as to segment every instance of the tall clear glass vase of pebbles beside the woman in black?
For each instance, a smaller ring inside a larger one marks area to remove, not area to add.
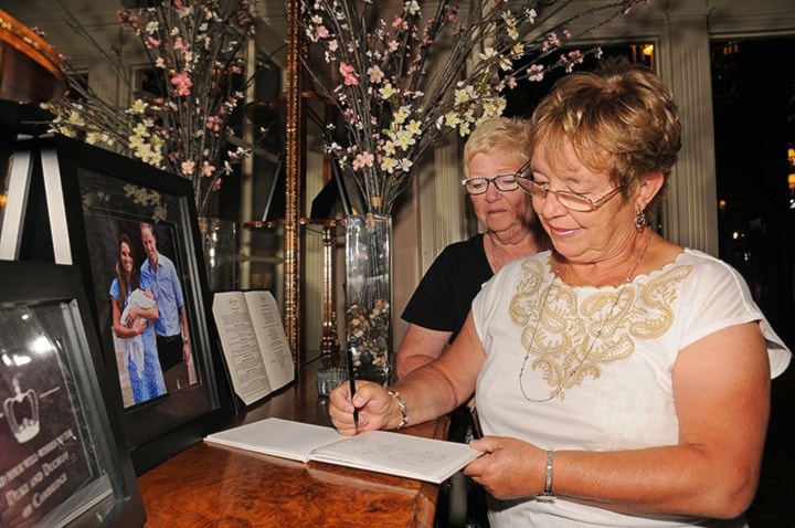
[[[346,330],[353,376],[388,383],[392,373],[392,218],[346,217]]]

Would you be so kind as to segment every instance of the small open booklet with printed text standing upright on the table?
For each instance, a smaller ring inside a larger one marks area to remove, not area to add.
[[[216,293],[212,311],[232,387],[246,405],[295,379],[293,353],[269,292]]]

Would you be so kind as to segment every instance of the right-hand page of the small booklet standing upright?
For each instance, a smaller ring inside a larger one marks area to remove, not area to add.
[[[254,332],[267,369],[273,390],[280,389],[295,379],[293,352],[287,342],[278,305],[271,292],[251,291],[245,293]]]

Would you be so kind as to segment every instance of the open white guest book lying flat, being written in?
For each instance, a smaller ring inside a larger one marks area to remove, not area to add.
[[[480,456],[467,444],[388,431],[343,436],[332,427],[268,418],[211,434],[220,444],[300,462],[325,462],[439,484]]]

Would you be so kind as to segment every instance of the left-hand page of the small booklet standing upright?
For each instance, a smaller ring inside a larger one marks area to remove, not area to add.
[[[226,357],[232,387],[248,405],[273,389],[242,292],[223,292],[213,298],[213,317]]]

